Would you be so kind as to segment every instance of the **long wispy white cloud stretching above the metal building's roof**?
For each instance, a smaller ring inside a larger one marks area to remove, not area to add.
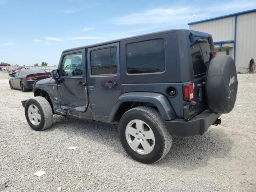
[[[221,16],[252,9],[256,1],[234,1],[211,6],[172,6],[167,8],[155,8],[144,12],[137,12],[114,19],[116,24],[186,24],[193,21],[192,15],[196,14],[196,20],[207,19],[212,16]]]

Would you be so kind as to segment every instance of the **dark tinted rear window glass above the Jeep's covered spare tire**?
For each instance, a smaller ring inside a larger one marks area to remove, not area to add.
[[[198,40],[191,45],[194,76],[206,73],[210,61],[210,52],[210,44],[207,39],[198,38]]]

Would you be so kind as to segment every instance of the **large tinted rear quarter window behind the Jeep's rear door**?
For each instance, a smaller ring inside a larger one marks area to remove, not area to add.
[[[129,74],[156,73],[165,70],[164,40],[156,39],[126,46]]]

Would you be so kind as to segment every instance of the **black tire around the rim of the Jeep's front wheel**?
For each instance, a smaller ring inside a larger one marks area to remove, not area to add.
[[[28,117],[28,108],[30,105],[35,105],[40,112],[41,120],[38,125],[32,124]],[[45,130],[52,125],[52,107],[50,106],[49,102],[43,97],[35,97],[27,100],[25,104],[25,116],[30,127],[36,131]]]

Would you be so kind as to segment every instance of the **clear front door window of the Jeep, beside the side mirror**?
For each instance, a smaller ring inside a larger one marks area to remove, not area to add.
[[[65,55],[60,73],[60,76],[82,76],[82,53]]]

